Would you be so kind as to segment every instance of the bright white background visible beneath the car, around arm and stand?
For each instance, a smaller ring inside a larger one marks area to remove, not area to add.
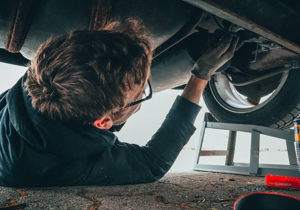
[[[0,63],[0,93],[12,87],[25,73],[26,69],[27,68],[25,67]],[[143,102],[140,111],[128,119],[122,130],[116,133],[116,136],[118,136],[119,140],[122,142],[135,143],[140,146],[144,146],[161,126],[161,123],[164,121],[165,116],[169,112],[176,96],[180,95],[181,92],[182,91],[180,90],[166,90],[160,93],[155,93],[152,99]],[[194,124],[197,130],[185,146],[186,149],[197,148],[204,113],[208,112],[202,98],[199,105],[202,106],[202,109]],[[227,139],[228,131],[207,129],[205,131],[205,140],[202,148],[206,150],[226,150]],[[269,148],[272,151],[276,151],[277,149],[286,149],[286,144],[283,140],[273,137],[264,137],[261,135],[260,148]],[[239,161],[236,161],[237,158],[247,161],[245,156],[248,157],[250,155],[250,134],[238,132],[236,151],[244,152],[241,152],[240,155],[236,153],[235,162]],[[186,150],[183,150],[173,166],[173,168],[175,168],[172,169],[177,171],[180,171],[181,169],[190,169],[193,165],[196,152],[190,151],[188,154],[189,155],[187,155]],[[271,155],[271,153],[268,154]],[[283,155],[284,157],[280,156],[280,158],[277,157],[276,154],[272,153],[271,157],[269,157],[272,161],[270,163],[278,164],[278,162],[283,161],[282,159],[284,159],[283,164],[288,164],[286,159],[287,154]],[[276,160],[276,157],[278,160]],[[268,160],[268,158],[266,159]],[[211,160],[213,161],[214,159],[212,158]],[[217,159],[215,159],[215,161],[217,161]]]

